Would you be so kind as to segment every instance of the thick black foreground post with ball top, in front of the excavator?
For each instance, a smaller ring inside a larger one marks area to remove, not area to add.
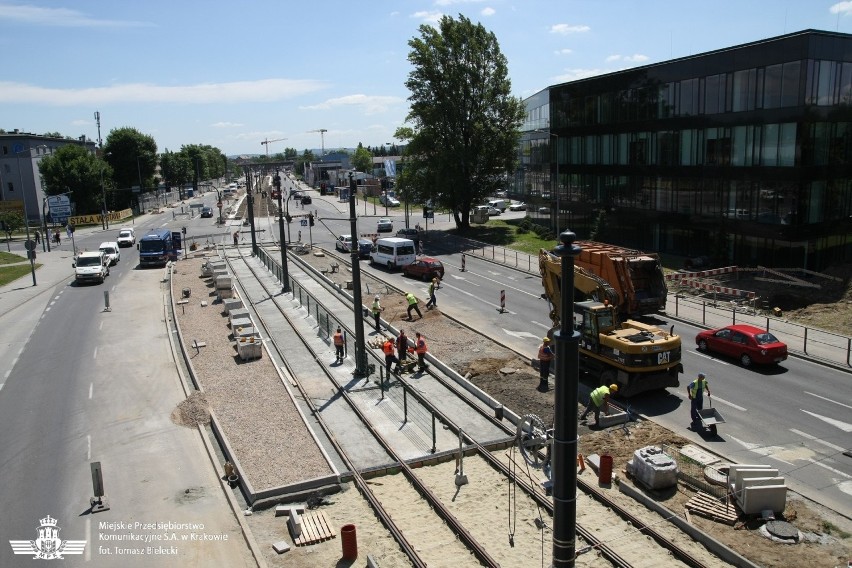
[[[577,403],[580,334],[574,330],[574,258],[580,254],[571,231],[559,235],[553,253],[562,259],[560,329],[556,342],[553,429],[553,566],[573,567],[577,530]]]

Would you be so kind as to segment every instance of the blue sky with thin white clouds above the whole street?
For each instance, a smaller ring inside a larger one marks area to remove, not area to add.
[[[494,32],[514,94],[807,28],[852,1],[0,0],[0,128],[225,154],[393,142],[408,41],[442,14]]]

